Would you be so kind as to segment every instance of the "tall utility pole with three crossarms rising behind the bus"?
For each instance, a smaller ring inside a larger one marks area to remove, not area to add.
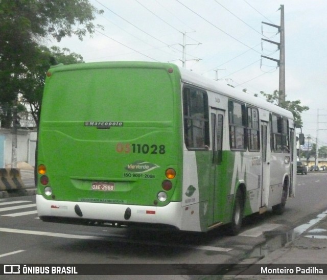
[[[277,65],[279,67],[279,89],[278,89],[278,105],[280,106],[283,102],[285,102],[285,27],[284,27],[284,5],[281,5],[281,7],[278,9],[281,10],[281,26],[269,24],[268,22],[262,21],[263,24],[269,25],[272,27],[275,27],[278,29],[278,32],[280,34],[279,43],[270,41],[267,39],[262,38],[262,40],[276,44],[279,49],[279,60],[270,58],[267,56],[262,55],[261,57],[273,60],[277,62]]]

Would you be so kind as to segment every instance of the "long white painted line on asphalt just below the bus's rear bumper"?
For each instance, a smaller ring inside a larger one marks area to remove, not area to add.
[[[40,236],[85,239],[85,240],[108,240],[108,238],[114,237],[114,236],[121,237],[120,235],[110,235],[107,238],[106,237],[97,237],[97,236],[85,236],[85,235],[68,235],[68,234],[59,234],[58,232],[35,231],[35,230],[25,230],[25,229],[4,228],[4,227],[0,227],[0,231],[12,232],[15,234],[40,235]],[[131,243],[131,244],[169,246],[169,247],[190,248],[190,249],[197,249],[197,250],[219,251],[219,252],[228,252],[228,251],[232,250],[231,248],[222,248],[222,247],[215,247],[215,246],[191,246],[191,245],[178,245],[178,244],[163,244],[163,243],[159,243],[159,242],[146,242],[146,241],[128,240],[128,239],[122,239],[122,238],[118,238],[118,239],[115,239],[112,241],[113,242]]]

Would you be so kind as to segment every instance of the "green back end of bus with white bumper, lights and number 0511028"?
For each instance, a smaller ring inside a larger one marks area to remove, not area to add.
[[[180,228],[181,122],[177,66],[52,67],[38,137],[40,219]]]

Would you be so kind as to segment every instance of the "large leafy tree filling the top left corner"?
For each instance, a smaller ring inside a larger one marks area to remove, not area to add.
[[[49,56],[41,43],[51,36],[60,41],[66,36],[76,35],[82,40],[87,33],[92,35],[96,28],[102,28],[92,23],[95,15],[102,12],[87,0],[0,1],[2,115],[9,116],[10,110],[4,108],[12,107],[25,87],[33,87],[28,78],[41,74],[39,68],[49,65],[45,63]],[[27,98],[27,90],[24,97]]]

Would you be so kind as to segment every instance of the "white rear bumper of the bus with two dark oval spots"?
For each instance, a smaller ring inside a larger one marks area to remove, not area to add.
[[[37,213],[41,220],[72,224],[118,223],[161,224],[181,229],[181,202],[166,206],[72,202],[47,200],[36,195]],[[129,215],[130,214],[130,215]]]

